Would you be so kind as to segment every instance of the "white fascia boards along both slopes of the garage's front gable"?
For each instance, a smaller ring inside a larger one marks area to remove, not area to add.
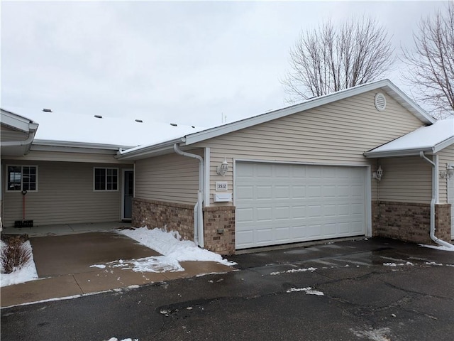
[[[350,89],[343,90],[340,92],[335,92],[333,94],[326,94],[325,96],[317,97],[315,99],[309,99],[309,101],[307,102],[296,104],[292,107],[279,109],[274,112],[260,114],[258,116],[243,119],[241,121],[225,124],[223,126],[217,126],[215,128],[207,129],[204,131],[199,131],[198,133],[189,134],[184,137],[184,141],[186,145],[196,144],[197,142],[200,141],[212,139],[223,134],[228,134],[233,131],[245,129],[250,126],[255,126],[257,124],[262,124],[267,121],[272,121],[273,119],[286,117],[291,114],[296,114],[297,112],[304,112],[305,110],[313,109],[315,107],[321,107],[322,105],[325,104],[330,104],[341,99],[353,97],[357,94],[362,94],[380,88],[384,88],[385,92],[387,92],[389,96],[396,99],[397,102],[399,102],[399,104],[401,104],[403,107],[409,110],[411,114],[414,114],[415,117],[423,121],[423,123],[433,124],[436,122],[436,119],[433,119],[433,117],[424,112],[424,110],[421,109],[419,105],[414,103],[406,94],[404,94],[404,92],[402,92],[401,90],[399,90],[398,87],[392,84],[390,80],[380,80],[365,85],[359,85],[358,87],[352,87]]]

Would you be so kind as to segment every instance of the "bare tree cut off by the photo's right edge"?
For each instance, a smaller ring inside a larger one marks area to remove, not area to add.
[[[447,11],[421,19],[413,34],[414,50],[402,48],[402,61],[409,65],[404,80],[417,99],[433,108],[434,117],[454,114],[454,1]]]

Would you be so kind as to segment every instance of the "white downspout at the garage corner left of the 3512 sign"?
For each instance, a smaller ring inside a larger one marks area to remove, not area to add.
[[[182,151],[179,144],[174,144],[173,149],[178,155],[199,160],[199,191],[197,192],[196,205],[194,205],[194,242],[199,247],[204,247],[204,158]]]

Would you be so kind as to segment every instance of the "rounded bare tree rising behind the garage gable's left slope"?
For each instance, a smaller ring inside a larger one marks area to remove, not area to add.
[[[300,33],[282,84],[290,102],[354,87],[389,70],[393,52],[387,31],[371,18],[352,18],[338,28],[328,20]]]

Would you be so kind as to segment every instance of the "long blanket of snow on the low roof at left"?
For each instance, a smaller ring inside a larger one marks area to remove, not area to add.
[[[134,147],[150,143],[158,144],[203,130],[194,126],[155,122],[140,117],[126,119],[99,114],[43,112],[21,108],[6,110],[39,124],[35,144],[42,141],[58,141]]]

